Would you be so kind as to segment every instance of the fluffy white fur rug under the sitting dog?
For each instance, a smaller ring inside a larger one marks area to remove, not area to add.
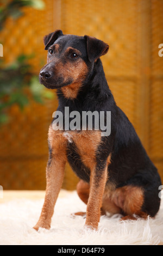
[[[162,191],[163,192],[163,191]],[[18,199],[0,204],[0,245],[158,245],[163,242],[163,193],[155,219],[120,222],[120,215],[101,217],[98,231],[83,230],[85,219],[71,213],[85,211],[76,192],[58,198],[51,230],[36,232],[43,199]]]

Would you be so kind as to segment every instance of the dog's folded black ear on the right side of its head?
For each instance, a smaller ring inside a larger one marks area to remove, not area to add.
[[[109,45],[102,40],[89,35],[85,35],[84,38],[86,39],[87,56],[90,62],[97,60],[108,52]]]

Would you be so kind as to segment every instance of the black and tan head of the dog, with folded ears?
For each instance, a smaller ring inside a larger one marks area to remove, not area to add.
[[[39,79],[50,89],[82,84],[96,60],[109,49],[105,42],[92,36],[64,35],[60,30],[46,35],[43,41],[48,50],[47,64]]]

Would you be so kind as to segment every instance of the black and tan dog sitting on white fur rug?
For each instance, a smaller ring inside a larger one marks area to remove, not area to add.
[[[48,57],[40,83],[57,89],[58,111],[64,115],[65,106],[79,113],[111,111],[111,134],[70,130],[70,140],[64,130],[49,127],[45,203],[34,229],[51,227],[66,161],[80,178],[77,192],[87,204],[86,227],[97,229],[105,212],[121,213],[123,220],[154,217],[160,206],[160,177],[106,82],[100,57],[109,46],[91,36],[63,35],[59,30],[45,36],[44,43]]]

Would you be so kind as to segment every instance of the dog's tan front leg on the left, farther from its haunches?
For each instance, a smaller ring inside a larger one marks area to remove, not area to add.
[[[46,169],[46,195],[39,221],[34,229],[51,228],[51,218],[54,206],[64,179],[66,163],[66,142],[64,137],[58,132],[49,129],[49,161]]]

